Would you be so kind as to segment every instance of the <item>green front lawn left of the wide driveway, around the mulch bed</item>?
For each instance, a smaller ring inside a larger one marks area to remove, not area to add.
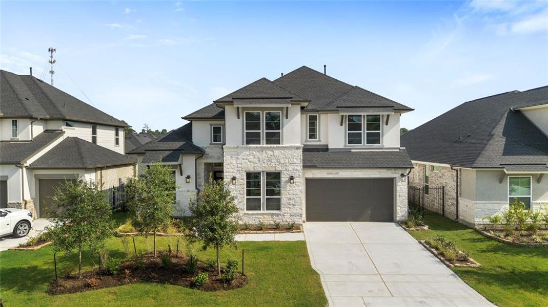
[[[118,217],[120,220],[122,216]],[[129,239],[129,252],[133,244]],[[152,237],[136,237],[138,253],[152,248]],[[158,238],[159,248],[175,249],[176,239]],[[110,238],[111,255],[125,257],[122,238]],[[187,252],[183,242],[180,249]],[[245,273],[249,283],[231,291],[202,292],[157,283],[98,289],[76,294],[49,296],[45,293],[54,279],[52,247],[37,251],[0,253],[0,298],[5,306],[326,306],[319,276],[310,265],[304,241],[239,242],[238,250],[226,248],[221,253],[222,265],[229,257],[241,262],[245,250]],[[214,258],[214,250],[194,248],[199,260]],[[70,268],[77,271],[77,256],[58,255],[58,274]],[[84,269],[98,263],[95,256],[84,253]]]

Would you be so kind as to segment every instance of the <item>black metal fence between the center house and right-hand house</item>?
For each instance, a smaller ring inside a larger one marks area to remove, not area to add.
[[[445,187],[407,187],[409,210],[419,210],[423,216],[445,215]]]

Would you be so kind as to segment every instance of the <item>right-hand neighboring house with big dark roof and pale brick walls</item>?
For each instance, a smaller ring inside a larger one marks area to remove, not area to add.
[[[444,186],[446,215],[484,223],[517,198],[548,204],[548,86],[463,103],[402,135],[412,186]]]

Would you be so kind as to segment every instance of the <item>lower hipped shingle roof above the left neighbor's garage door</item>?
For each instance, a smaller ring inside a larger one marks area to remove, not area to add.
[[[123,154],[81,138],[67,137],[34,161],[28,168],[93,169],[95,167],[128,165],[135,162]]]

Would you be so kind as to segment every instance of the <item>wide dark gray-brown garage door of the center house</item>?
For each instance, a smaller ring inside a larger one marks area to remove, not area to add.
[[[394,181],[306,179],[306,221],[391,222]]]

